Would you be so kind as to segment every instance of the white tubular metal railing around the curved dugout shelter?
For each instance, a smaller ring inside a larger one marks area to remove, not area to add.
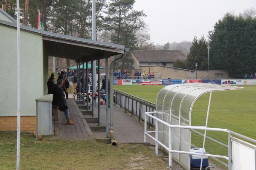
[[[199,127],[199,126],[182,126],[182,125],[170,125],[167,122],[164,122],[163,120],[157,118],[156,116],[153,116],[153,114],[162,114],[158,113],[156,111],[153,112],[145,112],[144,117],[144,142],[147,142],[147,136],[149,136],[151,139],[155,141],[155,153],[158,155],[158,144],[160,144],[163,148],[165,148],[169,153],[169,167],[172,167],[172,153],[183,153],[183,154],[189,154],[189,155],[198,155],[198,156],[209,156],[209,157],[215,157],[215,158],[223,158],[228,160],[228,169],[232,169],[232,154],[231,154],[231,138],[233,136],[237,136],[241,139],[247,140],[252,143],[256,143],[255,139],[251,139],[247,136],[241,135],[239,133],[233,132],[228,129],[221,129],[221,128],[211,128],[211,127]],[[155,130],[147,131],[147,116],[148,118],[155,120]],[[168,146],[163,144],[158,140],[158,122],[162,123],[163,125],[166,125],[168,129]],[[208,130],[208,131],[217,131],[217,132],[225,132],[228,133],[228,157],[222,156],[222,155],[213,155],[213,154],[206,154],[206,153],[194,153],[194,152],[187,152],[187,151],[180,151],[180,150],[172,150],[172,128],[182,128],[182,129],[190,129],[190,130]],[[151,136],[149,133],[155,133],[155,137]],[[202,168],[202,161],[203,157],[201,159],[201,167]]]

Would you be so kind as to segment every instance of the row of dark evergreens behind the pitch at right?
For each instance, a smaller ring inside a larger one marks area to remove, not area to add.
[[[230,77],[242,78],[256,73],[256,9],[238,15],[227,13],[209,32],[209,69],[228,70]],[[165,45],[166,46],[166,45]],[[194,37],[185,62],[174,67],[207,70],[208,42]]]

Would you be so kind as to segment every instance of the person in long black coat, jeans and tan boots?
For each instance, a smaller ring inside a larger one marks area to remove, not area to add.
[[[58,109],[60,111],[64,111],[65,117],[67,119],[67,125],[74,125],[72,120],[69,117],[69,111],[67,107],[67,102],[64,99],[64,94],[62,90],[63,81],[62,79],[58,80],[57,85],[55,85],[52,89],[53,93],[53,99],[52,99],[52,105],[58,106]]]

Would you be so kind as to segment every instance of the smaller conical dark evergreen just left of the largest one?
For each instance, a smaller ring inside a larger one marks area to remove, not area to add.
[[[207,70],[207,56],[207,41],[205,40],[204,36],[202,36],[199,40],[197,37],[194,37],[192,46],[190,47],[189,54],[187,55],[187,59],[185,61],[186,68],[195,70],[195,63],[198,63],[198,70]]]

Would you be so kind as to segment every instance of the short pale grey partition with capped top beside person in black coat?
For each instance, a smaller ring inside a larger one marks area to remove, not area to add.
[[[52,94],[42,96],[36,101],[36,139],[42,135],[52,135]]]

